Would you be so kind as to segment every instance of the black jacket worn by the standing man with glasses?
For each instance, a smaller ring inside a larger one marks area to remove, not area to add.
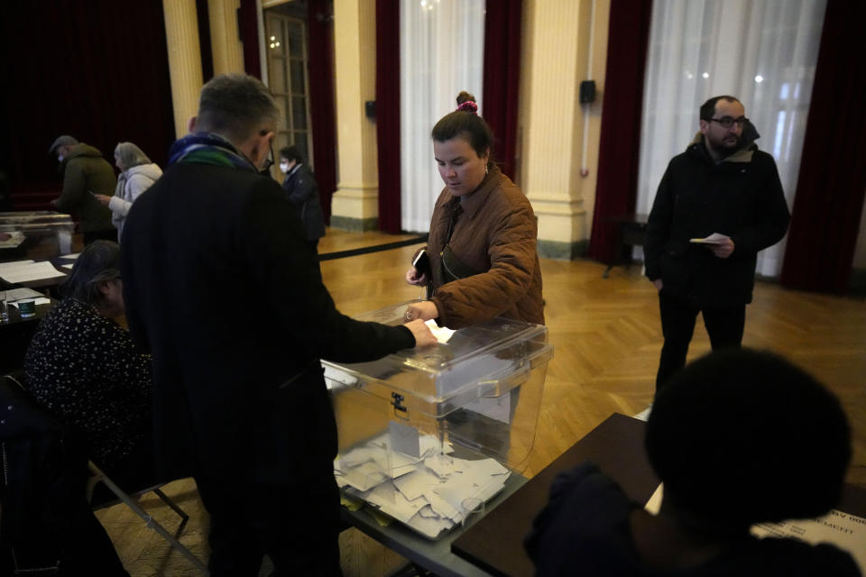
[[[751,302],[757,254],[788,230],[790,213],[776,162],[751,143],[716,164],[703,140],[668,164],[647,224],[646,275],[698,307]],[[713,233],[732,238],[727,259],[689,243]]]

